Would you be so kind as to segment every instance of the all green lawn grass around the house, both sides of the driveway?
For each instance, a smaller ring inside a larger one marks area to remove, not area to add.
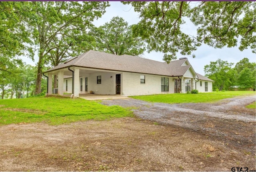
[[[199,94],[162,94],[132,96],[149,102],[161,103],[209,103],[225,98],[255,95],[252,91],[219,91]],[[247,106],[255,108],[255,102]],[[0,125],[46,122],[60,125],[76,121],[108,120],[132,117],[131,108],[105,106],[96,101],[70,99],[69,97],[31,97],[0,100]],[[156,124],[155,124],[156,125]]]

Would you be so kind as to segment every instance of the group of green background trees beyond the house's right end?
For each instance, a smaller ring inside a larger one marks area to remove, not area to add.
[[[228,61],[211,61],[210,65],[204,66],[206,77],[214,80],[213,91],[222,90],[248,90],[255,91],[256,84],[256,64],[249,62],[248,58],[240,60],[234,67],[234,63]]]

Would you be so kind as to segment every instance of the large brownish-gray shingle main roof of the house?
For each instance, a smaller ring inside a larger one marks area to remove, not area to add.
[[[166,62],[154,61],[132,55],[114,55],[90,50],[78,57],[45,71],[48,73],[70,66],[127,71],[164,76],[183,76],[191,65],[181,66],[187,59]]]

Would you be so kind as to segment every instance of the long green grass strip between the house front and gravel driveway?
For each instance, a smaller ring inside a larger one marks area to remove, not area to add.
[[[159,103],[212,103],[221,99],[231,98],[242,95],[255,95],[254,91],[219,91],[212,93],[198,94],[159,94],[159,95],[144,95],[131,96],[134,99],[159,102]]]

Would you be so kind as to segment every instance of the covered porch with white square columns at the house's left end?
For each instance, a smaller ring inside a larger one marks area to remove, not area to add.
[[[122,73],[118,71],[68,67],[51,71],[47,75],[48,95],[51,95],[54,91],[58,95],[72,94],[72,97],[82,97],[86,94],[90,95],[90,93],[95,95],[120,95],[122,91]],[[52,88],[54,75],[58,76],[58,88]]]

